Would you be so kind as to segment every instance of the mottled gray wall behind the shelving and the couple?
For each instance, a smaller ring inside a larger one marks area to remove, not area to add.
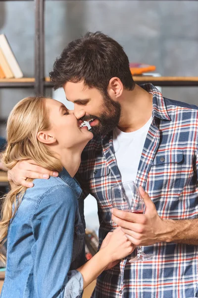
[[[45,17],[46,76],[68,42],[97,30],[115,38],[131,62],[154,64],[162,75],[198,75],[198,1],[46,1]],[[0,33],[6,34],[24,76],[33,76],[33,1],[0,2]],[[198,104],[198,87],[164,87],[162,92]],[[0,89],[0,118],[32,94],[31,89]]]

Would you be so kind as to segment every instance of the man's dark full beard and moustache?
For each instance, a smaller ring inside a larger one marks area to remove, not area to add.
[[[111,132],[119,123],[121,116],[121,105],[119,102],[112,100],[108,95],[103,97],[103,111],[99,117],[95,115],[84,116],[81,119],[87,121],[98,119],[99,124],[92,126],[94,135],[102,136]]]

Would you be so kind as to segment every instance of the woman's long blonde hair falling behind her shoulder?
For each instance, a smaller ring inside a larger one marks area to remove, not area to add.
[[[7,120],[7,147],[2,161],[8,169],[13,168],[21,159],[33,159],[49,170],[62,170],[60,160],[49,148],[38,141],[39,131],[50,128],[46,98],[41,96],[26,97],[19,101]],[[32,179],[29,179],[32,181]],[[10,220],[14,217],[26,191],[23,186],[11,189],[3,198],[0,220],[0,247],[5,242]],[[14,206],[14,212],[12,210]],[[1,260],[3,256],[0,255]]]

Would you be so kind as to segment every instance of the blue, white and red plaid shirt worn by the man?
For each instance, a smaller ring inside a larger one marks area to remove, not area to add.
[[[153,94],[153,109],[136,183],[148,192],[162,219],[196,219],[198,107],[164,98],[152,84],[142,87]],[[121,182],[112,132],[103,138],[94,137],[84,149],[78,180],[84,192],[98,201],[101,244],[115,226],[111,221],[110,190]],[[145,246],[143,251],[154,257],[132,264],[125,258],[103,271],[92,297],[198,297],[198,246],[162,242]]]

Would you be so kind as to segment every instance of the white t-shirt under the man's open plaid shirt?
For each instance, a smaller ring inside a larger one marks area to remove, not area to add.
[[[117,127],[113,130],[113,148],[122,182],[136,181],[138,166],[152,117],[139,130],[124,133]]]

